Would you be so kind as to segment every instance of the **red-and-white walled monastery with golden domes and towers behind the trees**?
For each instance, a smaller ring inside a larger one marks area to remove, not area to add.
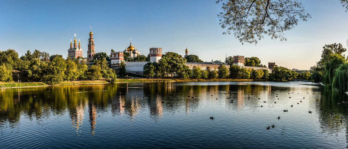
[[[109,67],[117,70],[119,68],[119,64],[121,62],[125,63],[126,71],[129,73],[134,73],[137,75],[143,75],[143,68],[144,65],[148,62],[127,62],[124,60],[124,53],[129,53],[130,57],[135,58],[136,56],[140,55],[140,52],[132,46],[132,40],[130,40],[130,45],[128,48],[126,48],[123,52],[111,52],[109,55],[108,64]],[[72,46],[74,45],[74,46]],[[68,49],[68,57],[70,58],[76,58],[80,62],[87,63],[88,65],[93,65],[93,57],[95,55],[95,48],[94,48],[94,39],[93,39],[93,33],[92,33],[92,27],[91,31],[89,33],[89,39],[88,39],[88,51],[87,51],[87,58],[84,58],[82,56],[83,50],[81,49],[80,45],[80,39],[79,44],[77,46],[77,40],[76,40],[76,34],[74,39],[74,44],[72,44],[72,40],[70,42],[70,48]],[[188,56],[188,49],[185,49],[185,56]],[[160,47],[150,47],[149,48],[149,55],[150,55],[150,62],[158,62],[162,58],[162,48]],[[226,62],[226,61],[225,61]],[[227,65],[220,61],[213,61],[212,62],[188,62],[185,63],[190,69],[193,69],[196,66],[199,66],[202,70],[210,69],[217,69],[220,65],[226,66],[226,68],[230,68],[230,65]],[[268,63],[268,68],[264,67],[254,67],[254,66],[245,66],[244,65],[244,56],[233,56],[233,65],[238,65],[240,68],[247,68],[247,69],[253,69],[253,70],[260,70],[260,69],[266,69],[269,73],[272,72],[272,68],[275,66],[275,63]]]

